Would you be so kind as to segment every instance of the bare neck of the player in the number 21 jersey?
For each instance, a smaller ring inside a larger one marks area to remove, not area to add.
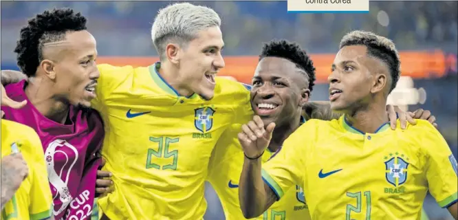
[[[369,104],[367,107],[345,114],[345,119],[351,126],[364,133],[375,133],[377,129],[388,122],[385,104]]]

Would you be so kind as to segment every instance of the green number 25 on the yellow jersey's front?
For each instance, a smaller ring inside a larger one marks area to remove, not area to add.
[[[158,158],[173,157],[173,163],[162,166],[162,170],[166,170],[166,169],[176,170],[177,169],[177,160],[178,160],[178,150],[168,151],[168,146],[172,143],[179,142],[179,138],[149,137],[149,140],[151,140],[151,142],[156,142],[157,145],[159,146],[157,148],[157,151],[151,148],[148,149],[148,157],[146,157],[146,168],[147,169],[156,168],[158,170],[161,169],[161,166],[159,164],[155,164],[152,162],[153,156],[158,157]],[[162,155],[162,151],[164,151],[164,155]]]

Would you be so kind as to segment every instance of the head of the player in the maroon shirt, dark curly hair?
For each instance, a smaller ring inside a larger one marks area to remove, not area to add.
[[[17,65],[30,78],[25,93],[52,94],[56,104],[46,104],[52,106],[50,111],[58,111],[58,122],[65,122],[68,104],[90,106],[99,77],[96,40],[80,13],[64,9],[37,15],[21,29],[14,52]],[[36,89],[41,86],[49,89]]]

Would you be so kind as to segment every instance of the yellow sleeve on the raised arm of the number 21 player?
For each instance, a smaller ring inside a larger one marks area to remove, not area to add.
[[[263,180],[274,190],[279,199],[292,186],[303,186],[305,159],[301,155],[305,155],[307,145],[314,142],[310,135],[307,135],[307,130],[310,131],[311,129],[315,129],[314,122],[312,120],[305,122],[283,142],[280,150],[276,151],[263,165],[261,171]],[[307,140],[307,137],[310,138]]]

